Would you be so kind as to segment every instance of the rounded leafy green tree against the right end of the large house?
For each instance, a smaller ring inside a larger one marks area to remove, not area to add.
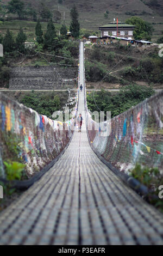
[[[144,21],[140,17],[131,17],[126,20],[126,23],[136,26],[133,33],[136,40],[151,40],[154,29],[149,22]]]

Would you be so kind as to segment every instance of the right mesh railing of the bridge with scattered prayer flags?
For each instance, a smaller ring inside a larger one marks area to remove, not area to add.
[[[86,97],[86,95],[85,95]],[[85,101],[86,111],[87,105]],[[136,162],[163,169],[163,90],[111,119],[110,135],[104,123],[87,112],[87,134],[93,149],[106,162],[129,173]]]

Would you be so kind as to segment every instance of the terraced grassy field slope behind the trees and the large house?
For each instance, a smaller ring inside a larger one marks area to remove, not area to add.
[[[39,10],[39,1],[34,0],[23,0],[25,3],[32,3],[32,7]],[[8,3],[9,0],[2,0],[3,3]],[[163,2],[159,1],[160,7],[154,8],[149,7],[142,0],[120,0],[116,2],[115,0],[62,0],[62,4],[58,4],[58,0],[45,0],[43,1],[47,4],[47,7],[54,13],[56,10],[60,10],[61,13],[61,23],[64,20],[65,14],[65,23],[66,26],[70,26],[70,9],[75,3],[79,12],[79,21],[80,27],[86,29],[87,31],[96,31],[98,32],[98,27],[112,21],[115,17],[118,17],[119,21],[126,21],[130,16],[140,16],[142,19],[154,23],[155,32],[153,34],[153,41],[156,41],[163,30],[163,17],[160,10],[163,8]],[[146,3],[149,1],[146,0]],[[109,11],[108,18],[104,17],[105,11]],[[54,19],[55,19],[55,15]],[[162,24],[159,24],[162,23]],[[27,21],[12,21],[4,22],[4,25],[0,25],[0,31],[5,32],[7,28],[12,29],[13,33],[16,34],[20,25],[26,30],[28,35],[28,40],[34,40],[34,31],[35,31],[35,22]],[[43,30],[46,29],[46,22],[43,22]],[[55,23],[57,32],[61,24]],[[83,33],[85,30],[83,30]]]

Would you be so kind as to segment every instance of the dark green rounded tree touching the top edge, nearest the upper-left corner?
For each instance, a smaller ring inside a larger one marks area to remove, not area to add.
[[[11,0],[7,6],[9,13],[17,13],[21,20],[24,16],[24,3],[21,0]]]

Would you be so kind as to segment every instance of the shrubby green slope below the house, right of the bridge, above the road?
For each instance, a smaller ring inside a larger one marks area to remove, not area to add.
[[[134,83],[142,87],[163,88],[162,64],[155,47],[86,46],[86,86],[87,89],[118,89]]]

